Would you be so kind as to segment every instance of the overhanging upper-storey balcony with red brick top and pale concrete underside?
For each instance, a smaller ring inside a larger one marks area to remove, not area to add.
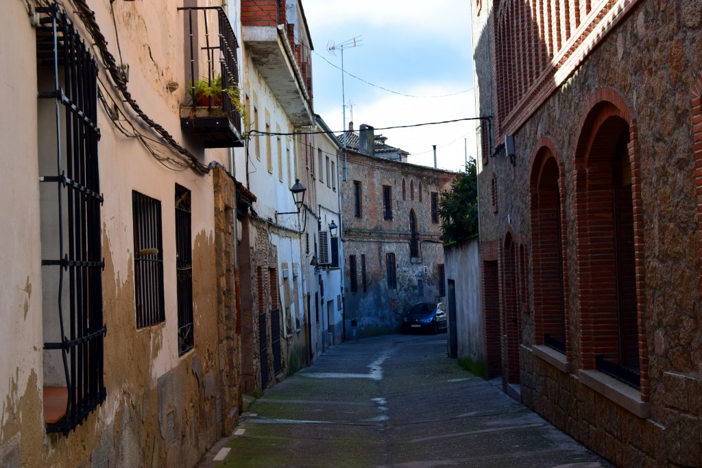
[[[294,126],[312,125],[314,116],[310,94],[290,45],[284,5],[279,0],[262,0],[256,5],[260,8],[252,8],[249,15],[242,15],[241,18],[246,53],[291,123]],[[268,10],[277,11],[278,14],[273,16]]]

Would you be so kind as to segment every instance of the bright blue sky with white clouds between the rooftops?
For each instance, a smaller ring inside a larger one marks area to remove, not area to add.
[[[314,111],[334,130],[343,128],[341,55],[329,45],[358,37],[362,44],[344,52],[345,72],[382,88],[344,77],[346,122],[376,128],[446,121],[475,116],[468,0],[303,0],[314,45]],[[328,60],[330,63],[325,61]],[[470,91],[466,91],[470,90]],[[461,91],[466,91],[461,93]],[[408,161],[463,168],[465,142],[475,155],[475,121],[409,129],[379,130],[388,145],[411,153]]]

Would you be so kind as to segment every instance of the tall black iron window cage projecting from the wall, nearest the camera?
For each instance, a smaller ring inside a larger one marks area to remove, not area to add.
[[[37,7],[46,432],[68,434],[105,400],[98,65],[57,4]],[[46,175],[48,174],[48,175]],[[58,403],[51,397],[57,396]]]

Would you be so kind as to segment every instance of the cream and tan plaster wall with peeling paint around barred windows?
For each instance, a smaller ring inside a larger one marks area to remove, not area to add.
[[[32,2],[30,2],[31,4]],[[67,1],[60,1],[81,37],[101,64],[95,41]],[[200,2],[218,4],[218,2]],[[178,109],[185,100],[185,31],[183,13],[171,1],[89,2],[107,39],[107,48],[129,65],[128,89],[140,107],[204,164],[226,163],[223,149],[203,149],[180,131]],[[115,37],[112,12],[117,34]],[[100,191],[104,194],[100,222],[102,257],[104,373],[107,398],[67,435],[46,434],[42,414],[44,320],[51,308],[42,298],[38,141],[44,128],[37,106],[35,31],[26,3],[9,0],[0,27],[12,48],[0,51],[0,103],[13,112],[0,114],[0,159],[11,174],[0,186],[5,203],[0,225],[0,261],[5,326],[0,329],[0,465],[1,466],[194,466],[223,432],[220,408],[234,422],[239,406],[223,393],[223,356],[218,344],[222,314],[218,313],[216,232],[213,176],[199,175],[168,161],[157,160],[143,142],[119,131],[102,106]],[[8,66],[8,64],[12,64]],[[120,125],[158,139],[124,107],[100,65],[101,93],[119,109]],[[104,85],[104,87],[102,87]],[[112,112],[112,111],[110,111]],[[131,128],[130,123],[135,127]],[[55,128],[53,129],[55,132]],[[45,145],[46,146],[46,145]],[[183,161],[174,149],[151,142],[159,157]],[[21,156],[21,157],[20,157]],[[165,167],[164,167],[165,166]],[[177,169],[173,171],[173,169]],[[192,194],[192,302],[194,347],[179,356],[176,288],[175,185]],[[161,203],[165,321],[137,328],[132,191]],[[225,230],[226,232],[226,230]],[[46,285],[48,286],[48,285]],[[232,303],[225,320],[236,314]],[[232,323],[230,325],[235,325]],[[239,351],[238,346],[230,349]],[[233,359],[234,373],[239,363]],[[53,366],[56,367],[56,366]],[[60,368],[55,374],[60,376]],[[53,378],[53,377],[52,377]],[[236,392],[234,392],[234,395]],[[221,399],[227,398],[227,404]]]

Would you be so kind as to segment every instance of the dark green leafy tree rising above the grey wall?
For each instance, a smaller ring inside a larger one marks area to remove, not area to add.
[[[478,191],[475,159],[458,173],[451,190],[439,198],[439,216],[444,243],[460,242],[478,234]]]

